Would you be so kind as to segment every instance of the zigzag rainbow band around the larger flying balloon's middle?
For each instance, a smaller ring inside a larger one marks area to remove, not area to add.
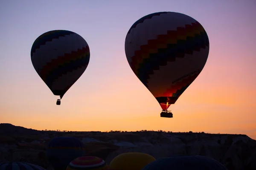
[[[177,31],[167,31],[166,35],[158,35],[157,40],[148,40],[147,45],[141,45],[140,50],[135,51],[130,66],[148,88],[147,79],[154,70],[159,70],[159,66],[175,61],[176,57],[182,58],[185,54],[193,54],[193,51],[200,51],[206,46],[209,46],[206,31],[200,23],[191,23],[185,28],[178,27]]]

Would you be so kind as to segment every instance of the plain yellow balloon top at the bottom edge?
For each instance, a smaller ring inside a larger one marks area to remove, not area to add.
[[[113,170],[142,170],[145,165],[156,160],[146,153],[122,153],[116,156],[109,164]]]

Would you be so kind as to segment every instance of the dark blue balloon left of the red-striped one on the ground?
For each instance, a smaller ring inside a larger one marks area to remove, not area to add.
[[[46,153],[55,170],[66,170],[70,161],[84,156],[84,144],[74,137],[56,137],[47,144]]]

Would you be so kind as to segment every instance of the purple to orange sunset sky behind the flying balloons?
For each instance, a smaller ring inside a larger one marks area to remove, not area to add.
[[[255,0],[1,0],[0,123],[33,129],[246,134],[256,139]],[[125,36],[159,11],[204,26],[210,51],[201,74],[161,118],[154,96],[131,70]],[[56,105],[30,58],[35,39],[64,29],[81,35],[90,62]]]

